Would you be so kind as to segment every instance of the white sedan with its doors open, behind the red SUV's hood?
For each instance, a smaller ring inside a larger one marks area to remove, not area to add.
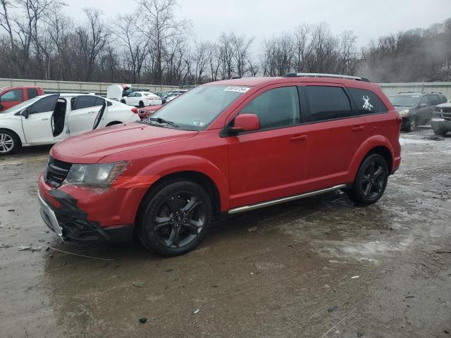
[[[0,111],[0,155],[89,130],[139,121],[136,108],[85,94],[49,94]]]

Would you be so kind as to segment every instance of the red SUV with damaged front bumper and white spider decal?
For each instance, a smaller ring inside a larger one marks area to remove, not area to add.
[[[144,122],[70,137],[39,177],[45,223],[75,242],[192,250],[213,218],[345,190],[381,198],[401,118],[360,77],[290,73],[196,87]]]

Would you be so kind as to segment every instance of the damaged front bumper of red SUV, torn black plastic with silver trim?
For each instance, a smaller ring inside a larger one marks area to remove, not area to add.
[[[128,242],[133,238],[133,224],[101,227],[98,222],[88,219],[73,196],[60,189],[49,189],[42,180],[39,180],[38,199],[42,220],[63,241]]]

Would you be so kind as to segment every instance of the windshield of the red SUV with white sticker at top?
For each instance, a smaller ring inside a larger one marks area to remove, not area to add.
[[[180,95],[152,115],[168,120],[180,129],[204,130],[249,87],[199,86]]]

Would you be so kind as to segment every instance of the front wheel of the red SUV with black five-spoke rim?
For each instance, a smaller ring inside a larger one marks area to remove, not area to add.
[[[144,198],[137,234],[150,251],[183,255],[202,242],[212,213],[211,197],[199,184],[185,179],[162,182]]]

